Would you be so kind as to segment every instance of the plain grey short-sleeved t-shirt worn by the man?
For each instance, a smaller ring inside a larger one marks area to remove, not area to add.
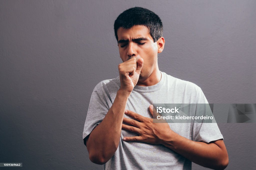
[[[162,73],[161,80],[153,86],[135,86],[126,109],[151,117],[149,106],[153,103],[208,103],[201,88],[194,83]],[[84,124],[83,139],[101,123],[114,102],[120,88],[120,79],[104,80],[94,88]],[[131,118],[124,114],[124,117]],[[209,143],[223,139],[216,123],[168,123],[177,134]],[[191,161],[163,145],[145,142],[126,142],[126,136],[138,136],[123,130],[118,149],[103,165],[104,169],[191,169]],[[108,147],[108,146],[106,146]]]

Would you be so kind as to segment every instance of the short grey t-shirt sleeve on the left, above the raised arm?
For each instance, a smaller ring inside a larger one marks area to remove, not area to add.
[[[99,86],[99,84],[97,86]],[[104,91],[97,88],[97,86],[93,89],[91,95],[86,121],[84,123],[83,139],[90,135],[92,130],[101,123],[106,113],[109,111],[107,103],[108,97],[104,94]],[[86,142],[84,142],[84,144],[86,145]]]

